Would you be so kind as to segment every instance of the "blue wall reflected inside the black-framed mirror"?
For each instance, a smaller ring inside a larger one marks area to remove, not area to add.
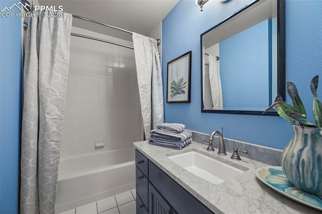
[[[270,105],[271,28],[266,20],[219,42],[225,110],[264,111]]]

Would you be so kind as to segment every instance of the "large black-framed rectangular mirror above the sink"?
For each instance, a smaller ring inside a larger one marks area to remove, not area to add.
[[[256,0],[202,33],[201,71],[202,113],[262,115],[285,100],[285,0]]]

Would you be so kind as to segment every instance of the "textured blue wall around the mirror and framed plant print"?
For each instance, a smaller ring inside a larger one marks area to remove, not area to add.
[[[167,63],[192,51],[191,103],[165,103],[165,121],[179,122],[188,129],[210,133],[225,127],[228,138],[283,149],[293,136],[292,126],[280,117],[201,113],[200,34],[251,1],[209,1],[204,11],[193,0],[181,0],[162,22],[162,73],[164,94]],[[309,82],[322,74],[322,1],[286,1],[286,80],[296,83],[313,122]],[[322,77],[322,76],[321,76]],[[320,81],[322,84],[322,81]],[[322,98],[321,90],[318,89]],[[166,98],[165,98],[166,100]],[[287,97],[286,101],[290,102]]]

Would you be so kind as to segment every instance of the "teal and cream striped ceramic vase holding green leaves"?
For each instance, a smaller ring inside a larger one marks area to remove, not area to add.
[[[293,128],[294,136],[282,153],[282,169],[295,187],[322,195],[322,128]]]

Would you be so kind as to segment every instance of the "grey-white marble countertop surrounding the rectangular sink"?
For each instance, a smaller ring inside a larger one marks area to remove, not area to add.
[[[148,144],[147,141],[133,143],[134,147],[144,154],[156,166],[166,172],[172,179],[195,196],[214,213],[321,213],[321,211],[293,201],[271,189],[258,180],[255,170],[267,164],[241,157],[240,161],[207,151],[207,146],[192,142],[181,150],[174,150]],[[197,151],[214,159],[238,168],[249,169],[231,179],[213,184],[180,167],[168,156],[188,151]]]

